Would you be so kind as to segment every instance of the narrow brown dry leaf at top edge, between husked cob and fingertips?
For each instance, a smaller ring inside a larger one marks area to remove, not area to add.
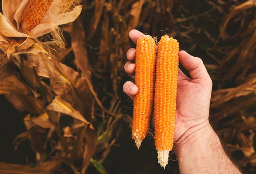
[[[93,17],[91,18],[91,21],[90,21],[87,41],[89,41],[93,37],[96,31],[96,28],[99,23],[99,19],[102,15],[102,9],[104,7],[104,4],[105,4],[105,0],[95,0],[95,10],[94,10]]]

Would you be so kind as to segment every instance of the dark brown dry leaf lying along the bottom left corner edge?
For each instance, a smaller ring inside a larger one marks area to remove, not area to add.
[[[0,174],[52,174],[44,169],[0,162]]]

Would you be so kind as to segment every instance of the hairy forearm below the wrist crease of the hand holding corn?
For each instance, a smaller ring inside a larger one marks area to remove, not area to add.
[[[241,174],[227,157],[220,139],[207,122],[188,130],[174,149],[178,158],[180,174],[213,173]]]

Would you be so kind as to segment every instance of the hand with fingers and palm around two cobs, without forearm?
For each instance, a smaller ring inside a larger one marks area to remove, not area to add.
[[[137,30],[132,30],[129,33],[129,37],[135,44],[137,43],[137,39],[143,35],[143,33]],[[128,50],[128,62],[125,64],[126,73],[132,78],[134,78],[135,71],[135,63],[133,62],[135,60],[135,52],[136,50],[134,48]],[[212,80],[200,58],[193,57],[185,51],[180,51],[180,63],[189,71],[192,79],[184,75],[179,69],[176,99],[175,147],[185,142],[188,136],[209,125],[209,103],[212,91]],[[131,99],[134,99],[138,88],[131,81],[127,81],[123,85],[123,91]],[[152,111],[151,124],[154,126],[153,115],[154,112]]]

